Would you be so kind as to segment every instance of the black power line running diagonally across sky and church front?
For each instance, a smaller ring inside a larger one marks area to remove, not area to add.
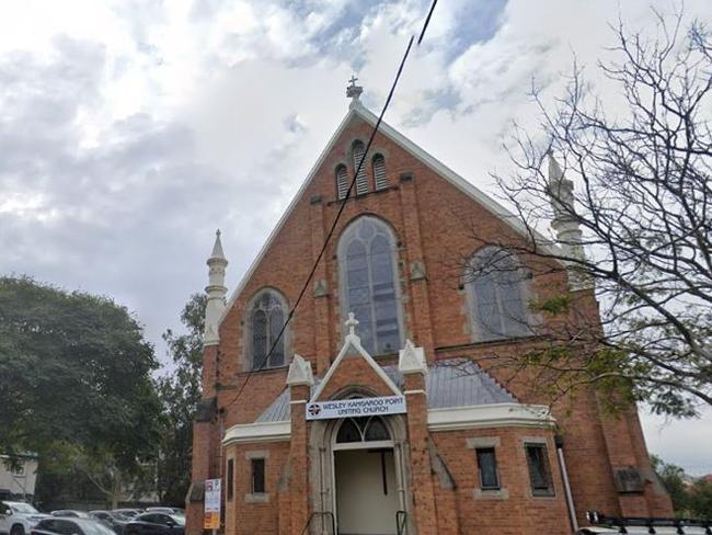
[[[425,23],[423,25],[423,30],[421,31],[421,36],[420,36],[420,38],[417,41],[418,45],[423,41],[423,36],[425,35],[425,30],[427,29],[428,23],[430,22],[430,16],[433,15],[433,10],[435,9],[436,3],[437,3],[437,0],[434,0],[433,4],[430,5],[430,10],[429,10],[429,12],[427,14]],[[240,386],[240,389],[234,395],[232,400],[226,406],[226,408],[231,407],[240,398],[240,396],[242,395],[244,388],[248,385],[248,382],[252,377],[252,374],[254,372],[261,372],[262,369],[264,369],[267,362],[269,361],[269,357],[274,353],[274,350],[277,348],[277,344],[282,340],[282,337],[283,337],[285,330],[287,329],[287,326],[291,321],[291,318],[295,315],[295,310],[297,310],[297,307],[299,306],[299,303],[301,303],[302,297],[307,293],[307,289],[309,288],[309,284],[311,283],[312,278],[314,276],[314,273],[317,272],[317,268],[319,266],[319,262],[321,261],[322,257],[324,255],[324,252],[326,251],[326,247],[329,246],[329,241],[331,240],[332,236],[334,235],[334,231],[336,230],[336,226],[338,225],[338,219],[341,218],[341,215],[343,214],[343,212],[344,212],[344,209],[346,207],[346,202],[352,196],[352,191],[354,190],[354,186],[356,184],[356,179],[358,178],[358,174],[359,174],[359,172],[361,170],[364,161],[366,160],[366,155],[368,155],[368,151],[369,151],[369,149],[371,147],[371,144],[374,143],[374,138],[376,137],[376,133],[378,132],[378,128],[380,127],[381,122],[383,121],[383,115],[386,114],[386,111],[388,110],[388,107],[389,107],[389,105],[391,103],[391,100],[393,98],[393,93],[395,92],[395,87],[398,86],[398,82],[399,82],[399,80],[401,78],[401,73],[403,72],[403,67],[405,66],[405,60],[407,59],[409,54],[411,53],[411,48],[413,46],[413,41],[414,39],[415,39],[415,36],[412,35],[411,38],[407,42],[407,47],[405,48],[405,53],[403,54],[403,58],[401,59],[401,64],[399,65],[398,71],[395,72],[395,78],[393,79],[393,83],[391,83],[391,89],[388,92],[388,98],[386,99],[386,103],[383,104],[383,107],[381,109],[381,113],[378,116],[378,121],[376,122],[376,125],[374,126],[374,130],[371,132],[371,135],[368,138],[368,143],[366,144],[366,149],[364,150],[364,155],[361,156],[361,159],[358,162],[358,167],[356,168],[356,170],[354,172],[354,178],[352,179],[351,184],[348,186],[348,190],[346,191],[346,196],[343,198],[343,201],[341,203],[341,206],[338,207],[338,212],[336,212],[336,216],[334,217],[334,221],[332,223],[332,226],[329,229],[329,234],[326,235],[326,238],[324,239],[324,243],[322,244],[321,250],[319,251],[319,254],[317,257],[317,260],[314,261],[314,263],[313,263],[313,265],[311,268],[311,271],[309,272],[309,276],[307,276],[307,280],[305,281],[305,284],[303,284],[301,291],[299,292],[299,296],[297,297],[297,300],[295,301],[295,305],[289,310],[289,314],[287,315],[287,319],[285,320],[284,325],[282,326],[282,329],[279,330],[279,333],[277,334],[277,338],[272,343],[272,346],[269,348],[269,351],[267,352],[267,354],[264,356],[264,358],[260,363],[260,366],[256,369],[252,368],[252,369],[250,369],[248,372],[248,376],[245,377],[244,383],[242,383],[242,385]]]

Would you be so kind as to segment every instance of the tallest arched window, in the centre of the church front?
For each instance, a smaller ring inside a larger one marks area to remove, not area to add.
[[[354,312],[361,345],[371,354],[394,353],[402,345],[397,242],[382,220],[361,216],[338,242],[342,314]]]

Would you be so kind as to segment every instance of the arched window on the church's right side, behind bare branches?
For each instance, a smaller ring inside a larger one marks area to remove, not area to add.
[[[468,266],[470,312],[480,340],[530,334],[526,270],[512,253],[487,247]]]

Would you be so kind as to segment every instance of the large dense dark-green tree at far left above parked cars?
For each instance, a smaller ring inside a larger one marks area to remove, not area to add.
[[[0,277],[0,451],[36,452],[41,473],[111,456],[131,474],[154,453],[153,348],[107,297]]]

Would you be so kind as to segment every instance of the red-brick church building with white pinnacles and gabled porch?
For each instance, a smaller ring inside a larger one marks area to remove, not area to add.
[[[590,285],[565,269],[466,277],[462,259],[498,254],[472,226],[516,242],[516,218],[384,123],[366,153],[377,116],[353,82],[347,94],[229,297],[219,234],[207,261],[188,535],[215,478],[226,535],[564,535],[587,510],[670,516],[634,408],[607,416],[592,390],[550,411],[526,374],[497,365],[537,343],[522,321],[535,298],[564,288],[598,318]],[[571,184],[553,159],[549,172]]]

